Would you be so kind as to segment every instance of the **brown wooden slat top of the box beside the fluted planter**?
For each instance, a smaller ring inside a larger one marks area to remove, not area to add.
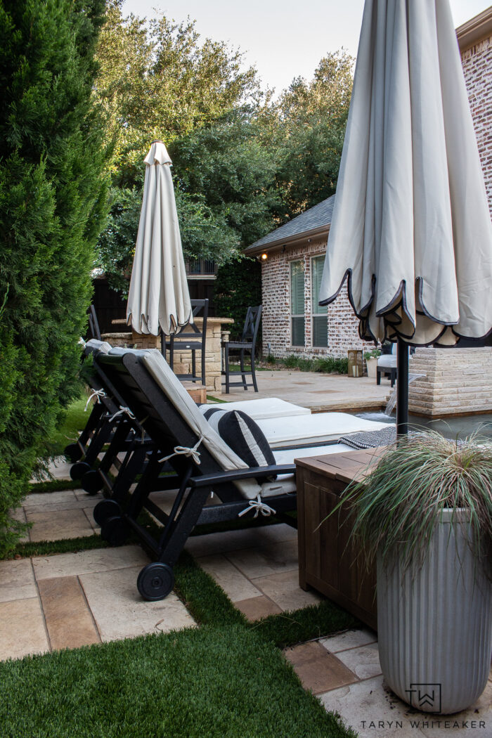
[[[330,479],[350,483],[354,479],[363,479],[370,466],[378,463],[385,452],[385,446],[375,449],[342,451],[339,454],[325,454],[308,458],[294,459],[296,466],[317,472]]]

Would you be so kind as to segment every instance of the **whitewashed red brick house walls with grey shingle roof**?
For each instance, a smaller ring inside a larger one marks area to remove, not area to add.
[[[492,213],[492,7],[457,29],[479,153]],[[358,336],[358,320],[347,297],[346,283],[328,306],[326,346],[313,345],[312,259],[325,255],[333,199],[319,203],[260,238],[246,254],[262,259],[263,353],[274,356],[347,356],[350,348],[374,348]],[[304,345],[293,345],[291,263],[304,271]]]

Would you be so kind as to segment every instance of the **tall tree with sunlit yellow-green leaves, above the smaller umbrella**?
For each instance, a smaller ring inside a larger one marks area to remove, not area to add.
[[[243,70],[240,53],[221,41],[201,43],[194,21],[125,18],[122,4],[108,2],[96,94],[116,141],[113,181],[125,187],[140,184],[153,139],[169,145],[261,93],[255,69]]]

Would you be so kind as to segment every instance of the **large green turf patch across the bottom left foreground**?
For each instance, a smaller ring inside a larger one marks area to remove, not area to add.
[[[11,738],[355,738],[238,625],[0,663]]]

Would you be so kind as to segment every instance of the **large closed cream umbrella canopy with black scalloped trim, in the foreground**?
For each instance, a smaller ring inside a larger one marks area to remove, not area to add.
[[[366,0],[319,300],[361,337],[492,329],[492,227],[448,0]]]

